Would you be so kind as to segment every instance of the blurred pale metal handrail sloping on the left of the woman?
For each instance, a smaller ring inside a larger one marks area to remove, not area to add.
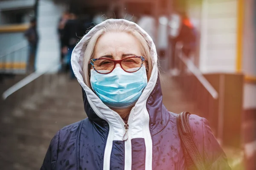
[[[45,71],[41,71],[40,73],[34,72],[30,74],[29,76],[25,77],[24,79],[17,82],[15,85],[7,89],[3,92],[2,97],[5,100],[8,96],[14,94],[16,91],[18,91],[20,88],[23,88],[24,86],[28,85],[30,82],[34,81],[38,77],[52,71],[55,69],[60,68],[61,64],[58,65],[51,65],[49,68],[47,68]]]

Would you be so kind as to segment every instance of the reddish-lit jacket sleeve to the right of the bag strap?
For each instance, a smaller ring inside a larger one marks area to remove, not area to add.
[[[209,122],[196,115],[190,117],[190,130],[207,170],[231,170],[227,156],[212,134]]]

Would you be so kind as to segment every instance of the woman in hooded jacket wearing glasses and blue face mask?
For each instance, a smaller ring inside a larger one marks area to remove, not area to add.
[[[42,170],[186,170],[174,113],[162,103],[155,45],[137,24],[106,20],[72,54],[88,119],[52,139]],[[206,119],[190,128],[207,169],[229,169]]]

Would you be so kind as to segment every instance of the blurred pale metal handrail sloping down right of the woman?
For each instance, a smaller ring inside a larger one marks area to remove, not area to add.
[[[194,65],[194,63],[185,57],[183,57],[183,44],[178,42],[176,43],[176,50],[179,50],[181,55],[178,55],[180,60],[189,68],[189,71],[198,79],[198,81],[204,86],[204,88],[209,92],[209,94],[214,98],[218,99],[218,92],[215,90],[215,88],[212,87],[212,85],[208,82],[208,80],[204,77],[204,75],[201,73],[201,71]]]

